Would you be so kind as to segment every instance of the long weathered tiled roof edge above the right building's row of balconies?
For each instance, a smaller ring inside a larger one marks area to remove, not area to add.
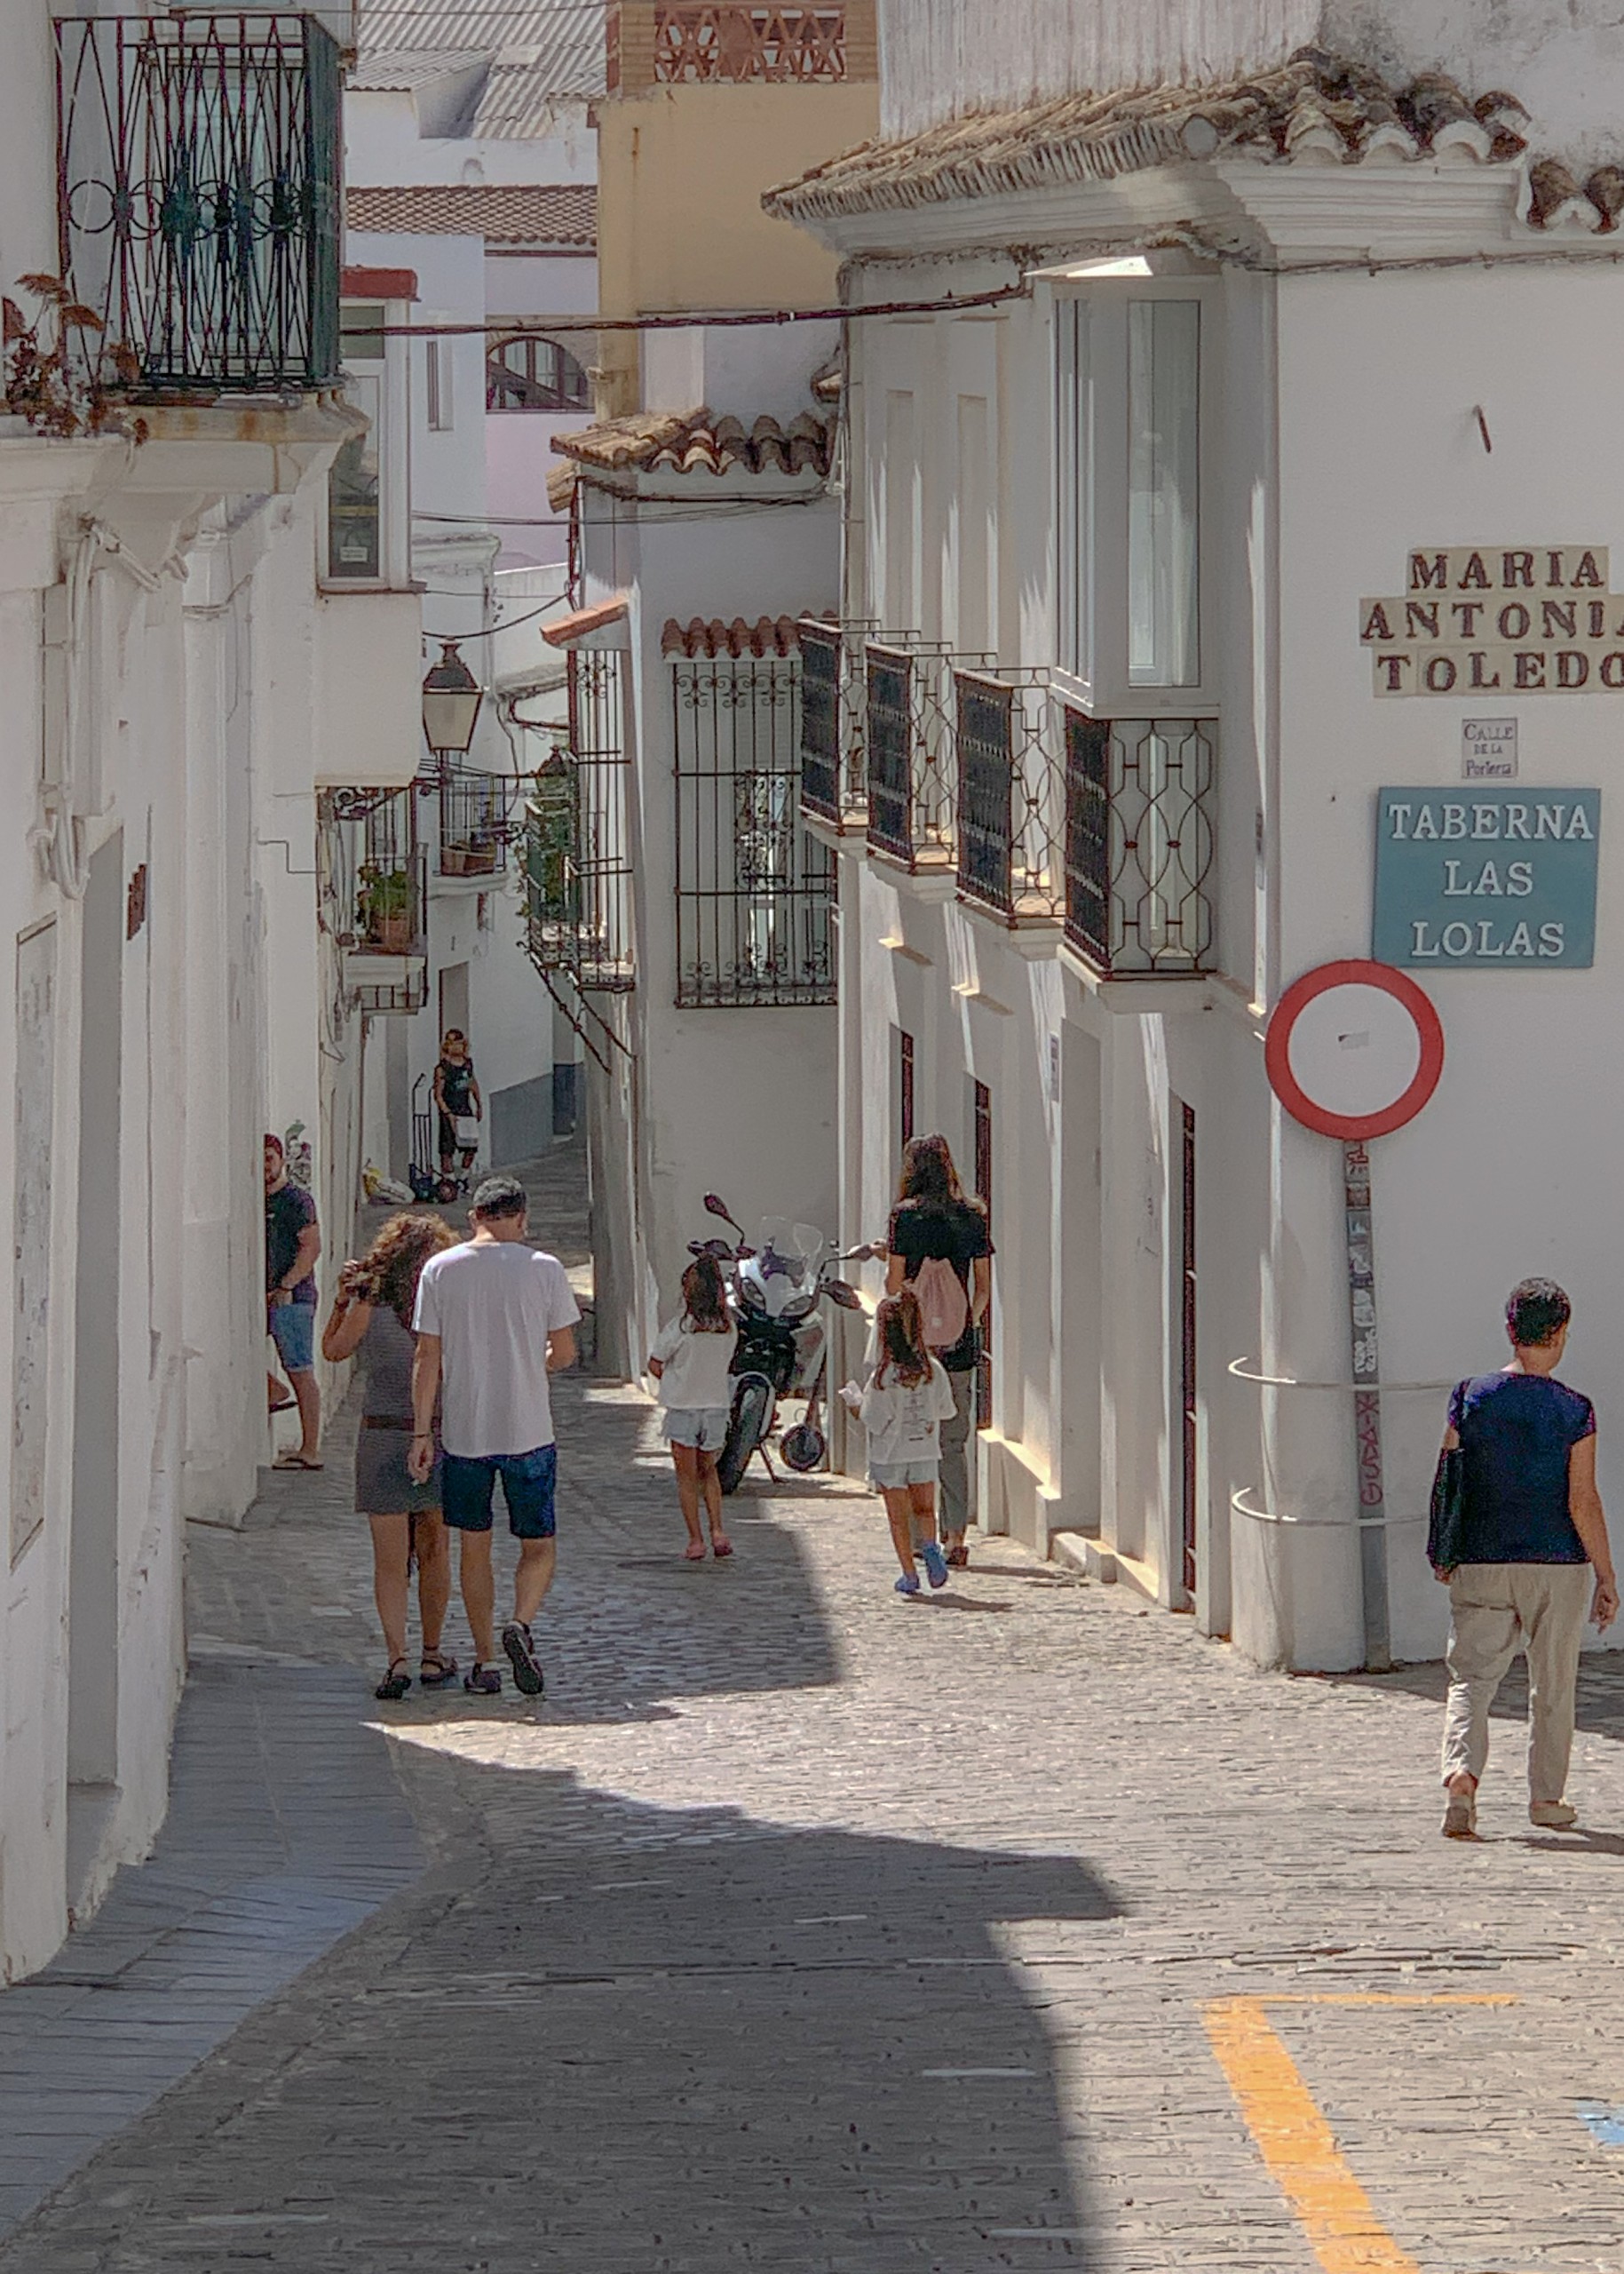
[[[769,189],[762,205],[782,221],[817,221],[1110,182],[1221,152],[1335,164],[1449,152],[1506,164],[1526,148],[1524,125],[1515,96],[1494,91],[1472,102],[1442,73],[1390,86],[1347,57],[1303,48],[1249,80],[1060,96],[1019,111],[946,118],[901,141],[846,150]]]

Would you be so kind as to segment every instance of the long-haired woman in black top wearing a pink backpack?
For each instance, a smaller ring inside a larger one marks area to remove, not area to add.
[[[926,1348],[942,1360],[953,1414],[942,1424],[942,1544],[955,1571],[969,1562],[969,1433],[976,1419],[976,1364],[992,1301],[992,1235],[983,1201],[964,1196],[946,1137],[903,1146],[903,1178],[885,1237],[885,1292],[912,1287]]]

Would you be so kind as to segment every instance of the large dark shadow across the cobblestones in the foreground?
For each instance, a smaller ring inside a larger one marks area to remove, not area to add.
[[[23,2229],[7,2274],[1085,2258],[1044,2015],[996,1933],[1110,1917],[1083,1862],[560,1771],[459,1762],[457,1799],[478,1883],[312,1969]]]

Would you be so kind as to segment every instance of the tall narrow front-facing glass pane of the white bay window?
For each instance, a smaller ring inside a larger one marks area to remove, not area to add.
[[[1128,307],[1128,682],[1201,680],[1201,302]]]

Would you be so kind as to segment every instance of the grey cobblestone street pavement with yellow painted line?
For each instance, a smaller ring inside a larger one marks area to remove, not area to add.
[[[0,2274],[1624,2269],[1608,1667],[1599,1828],[1501,1721],[1456,1846],[1433,1669],[1251,1674],[1005,1542],[901,1603],[830,1480],[689,1567],[635,1392],[560,1439],[546,1701],[373,1706],[341,1439],[198,1539],[193,1630],[384,1728],[428,1865]]]

